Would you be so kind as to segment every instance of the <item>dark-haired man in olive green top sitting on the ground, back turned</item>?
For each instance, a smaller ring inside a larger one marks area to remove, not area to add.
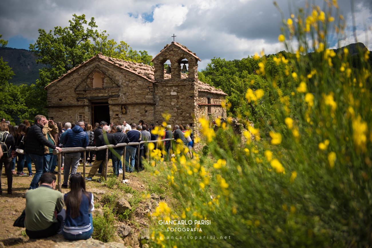
[[[62,231],[66,212],[63,195],[55,190],[55,180],[54,174],[44,173],[40,187],[26,192],[25,228],[29,238],[47,238]]]

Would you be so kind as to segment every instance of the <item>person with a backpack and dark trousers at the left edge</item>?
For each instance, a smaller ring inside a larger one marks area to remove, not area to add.
[[[0,195],[3,193],[1,190],[1,171],[3,170],[3,164],[8,179],[8,195],[12,195],[12,151],[15,149],[15,140],[13,135],[9,133],[9,126],[4,122],[0,123],[0,141],[3,143],[0,150],[4,153],[0,159]]]

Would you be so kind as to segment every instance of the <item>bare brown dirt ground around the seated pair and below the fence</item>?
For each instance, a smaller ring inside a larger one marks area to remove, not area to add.
[[[109,162],[108,164],[108,171],[109,174],[112,174],[112,166]],[[86,167],[86,173],[88,173],[90,167]],[[27,172],[27,169],[24,169],[24,172]],[[35,174],[35,167],[32,164],[32,172]],[[78,172],[83,173],[83,166],[80,163],[78,167]],[[56,175],[57,177],[57,175]],[[122,174],[119,175],[119,179],[122,177]],[[143,192],[143,193],[151,193],[149,190],[149,185],[156,181],[153,178],[150,172],[146,170],[137,173],[126,173],[126,179],[129,180],[129,186],[132,189]],[[18,216],[22,213],[23,209],[25,209],[25,193],[28,190],[29,185],[31,183],[33,177],[28,176],[13,176],[13,195],[7,195],[7,179],[6,176],[1,172],[1,188],[3,190],[3,195],[0,196],[0,247],[2,244],[5,246],[16,246],[16,247],[51,247],[55,245],[54,241],[41,239],[41,240],[34,240],[29,239],[25,233],[25,228],[14,227],[13,223],[18,218]],[[63,171],[61,178],[63,180]],[[92,182],[86,182],[87,191],[91,192],[102,192],[110,193],[108,187],[103,186],[102,184],[96,182],[99,177],[93,177]],[[121,183],[121,182],[120,182]],[[160,185],[164,187],[165,185]],[[165,186],[166,187],[166,186]],[[69,189],[62,189],[62,193],[67,193]],[[124,192],[123,192],[124,195]],[[100,195],[99,193],[94,193],[94,202],[96,203],[99,201]],[[131,226],[133,232],[135,234],[139,234],[140,231],[144,228],[148,227],[148,216],[144,214],[145,211],[145,203],[140,203],[140,206],[134,212],[134,216],[126,225]],[[137,247],[138,245],[135,245]]]

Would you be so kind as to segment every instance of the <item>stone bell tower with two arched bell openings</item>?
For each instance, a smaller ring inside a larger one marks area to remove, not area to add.
[[[170,74],[164,69],[164,63],[170,61]],[[195,126],[195,112],[198,108],[198,61],[186,46],[177,42],[166,45],[152,60],[155,79],[155,122],[161,124],[161,114],[171,114],[168,121],[175,124]],[[185,66],[188,65],[187,71]]]

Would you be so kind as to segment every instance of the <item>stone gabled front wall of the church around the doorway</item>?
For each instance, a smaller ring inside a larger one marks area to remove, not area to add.
[[[103,88],[92,88],[92,77],[97,72],[102,74]],[[47,91],[48,106],[62,106],[48,107],[49,117],[56,121],[77,121],[83,115],[83,121],[92,123],[91,104],[99,101],[110,104],[110,122],[155,121],[154,83],[99,58],[49,85]],[[125,105],[125,114],[121,105]]]

